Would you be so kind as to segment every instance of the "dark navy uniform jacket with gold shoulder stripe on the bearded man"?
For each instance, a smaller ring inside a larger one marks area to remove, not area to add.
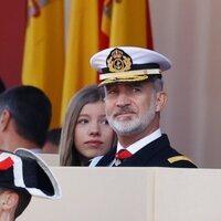
[[[96,165],[96,167],[107,167],[114,160],[116,148],[110,149]],[[123,160],[117,167],[177,167],[197,168],[197,166],[186,156],[179,154],[170,147],[167,135],[146,145],[131,157]]]

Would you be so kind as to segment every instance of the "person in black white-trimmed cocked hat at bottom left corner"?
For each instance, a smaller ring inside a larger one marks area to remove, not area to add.
[[[32,196],[61,198],[61,188],[52,171],[31,150],[0,150],[0,221],[14,221]]]

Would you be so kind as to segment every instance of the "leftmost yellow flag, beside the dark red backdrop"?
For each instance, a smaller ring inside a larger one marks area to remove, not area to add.
[[[30,0],[22,84],[36,86],[52,102],[51,127],[60,125],[64,73],[64,2]]]

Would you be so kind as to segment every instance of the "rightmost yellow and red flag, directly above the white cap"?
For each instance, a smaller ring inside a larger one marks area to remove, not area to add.
[[[101,23],[101,49],[117,45],[152,49],[148,0],[104,0]]]

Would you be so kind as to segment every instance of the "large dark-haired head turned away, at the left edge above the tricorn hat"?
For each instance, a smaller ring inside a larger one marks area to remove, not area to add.
[[[0,94],[0,149],[18,147],[42,152],[51,122],[51,102],[34,86],[15,86]]]

